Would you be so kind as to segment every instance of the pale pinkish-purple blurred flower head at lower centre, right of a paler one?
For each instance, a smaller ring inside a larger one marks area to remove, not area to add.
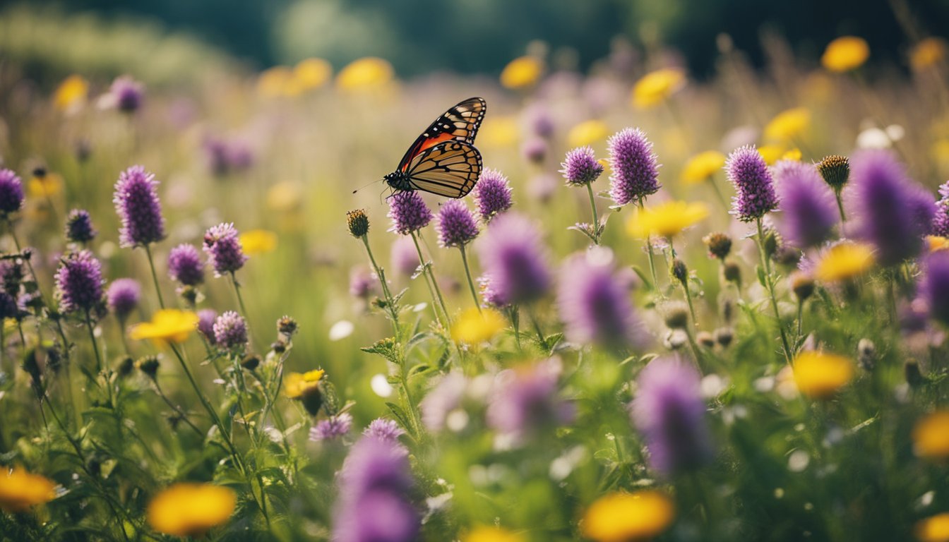
[[[515,440],[573,420],[574,408],[557,393],[561,364],[556,358],[507,369],[495,379],[488,424]]]

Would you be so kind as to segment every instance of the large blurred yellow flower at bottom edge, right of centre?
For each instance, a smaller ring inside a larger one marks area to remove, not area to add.
[[[596,542],[648,540],[665,531],[675,517],[675,505],[664,493],[613,493],[586,509],[580,531]]]

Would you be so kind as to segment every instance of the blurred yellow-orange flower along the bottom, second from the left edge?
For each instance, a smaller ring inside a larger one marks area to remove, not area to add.
[[[158,533],[198,537],[227,522],[236,504],[237,494],[230,488],[177,483],[148,503],[148,524]]]

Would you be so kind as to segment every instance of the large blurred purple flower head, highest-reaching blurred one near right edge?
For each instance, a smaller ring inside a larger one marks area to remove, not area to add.
[[[876,247],[883,266],[919,254],[936,215],[933,196],[906,177],[890,151],[862,151],[850,163],[856,235]]]

